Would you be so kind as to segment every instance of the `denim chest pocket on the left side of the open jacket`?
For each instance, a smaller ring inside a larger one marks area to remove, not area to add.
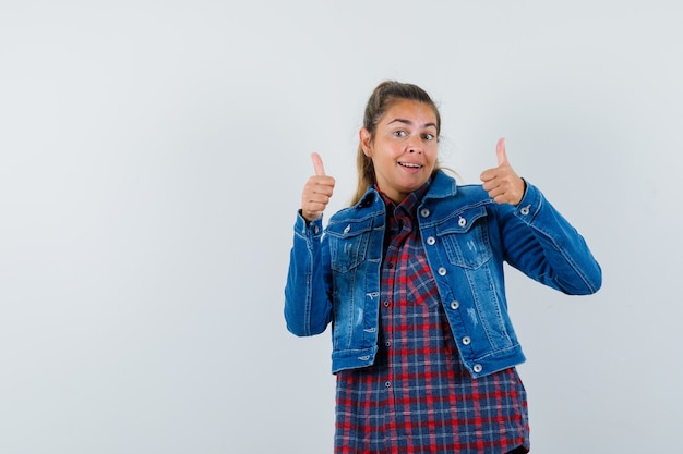
[[[371,219],[327,225],[331,267],[334,271],[348,272],[366,259],[371,229]]]

